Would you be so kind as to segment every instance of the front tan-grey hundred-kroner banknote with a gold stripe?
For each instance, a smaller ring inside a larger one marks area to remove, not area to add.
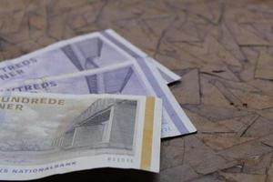
[[[158,172],[161,111],[152,96],[0,93],[0,179],[97,167]]]

